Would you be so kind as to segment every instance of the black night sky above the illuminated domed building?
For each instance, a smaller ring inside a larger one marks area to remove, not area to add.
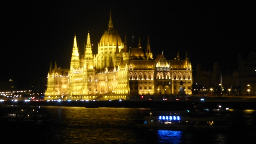
[[[89,30],[96,54],[111,7],[113,28],[123,41],[127,35],[128,46],[134,36],[146,48],[149,35],[154,58],[163,50],[167,59],[177,52],[183,59],[188,51],[194,71],[197,63],[209,70],[214,62],[236,69],[239,52],[256,48],[255,5],[246,1],[1,3],[0,81],[46,77],[51,61],[69,68],[75,33],[82,53]]]

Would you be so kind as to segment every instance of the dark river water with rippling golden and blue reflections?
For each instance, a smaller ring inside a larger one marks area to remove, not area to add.
[[[138,108],[43,107],[46,125],[2,124],[1,144],[254,144],[255,110],[234,111],[230,131],[148,130],[134,127]],[[6,140],[3,141],[3,140]]]

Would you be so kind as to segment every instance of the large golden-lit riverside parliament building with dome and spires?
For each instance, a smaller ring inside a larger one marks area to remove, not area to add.
[[[45,100],[115,100],[129,99],[132,95],[191,95],[192,66],[186,54],[180,60],[166,60],[163,52],[153,58],[149,37],[147,47],[128,48],[113,29],[110,14],[108,30],[98,44],[98,54],[93,55],[90,34],[84,55],[74,37],[70,69],[50,65],[47,76]]]

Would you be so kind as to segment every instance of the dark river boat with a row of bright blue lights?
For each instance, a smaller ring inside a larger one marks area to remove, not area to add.
[[[165,130],[229,130],[226,117],[213,111],[145,111],[135,126]]]

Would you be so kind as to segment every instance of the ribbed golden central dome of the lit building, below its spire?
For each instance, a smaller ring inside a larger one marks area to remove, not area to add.
[[[122,46],[122,40],[121,37],[117,34],[117,32],[113,29],[108,29],[105,31],[105,33],[102,35],[102,38],[100,39],[100,46],[103,46],[103,43],[105,46],[112,46],[114,43],[114,46]]]

